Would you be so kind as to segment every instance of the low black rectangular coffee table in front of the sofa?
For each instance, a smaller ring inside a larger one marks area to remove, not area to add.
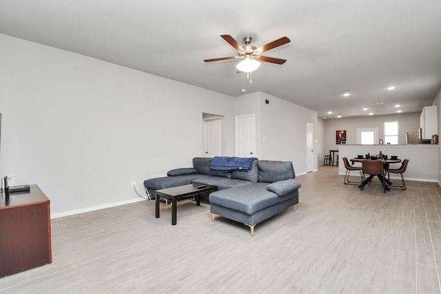
[[[196,206],[201,205],[201,194],[217,191],[218,187],[201,184],[189,184],[155,191],[155,217],[159,218],[159,199],[166,198],[172,201],[172,224],[176,224],[177,202],[179,199],[194,195]]]

